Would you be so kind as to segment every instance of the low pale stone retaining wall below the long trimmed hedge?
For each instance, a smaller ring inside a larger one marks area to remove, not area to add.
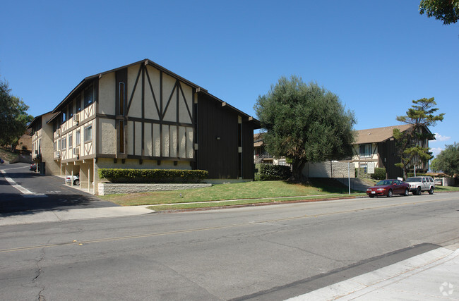
[[[138,183],[99,183],[99,195],[114,193],[135,193],[148,191],[167,191],[211,187],[212,184],[138,184]]]

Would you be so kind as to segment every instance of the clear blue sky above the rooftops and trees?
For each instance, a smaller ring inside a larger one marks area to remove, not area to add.
[[[89,75],[142,59],[254,115],[280,76],[338,94],[356,130],[397,125],[435,97],[444,145],[459,142],[459,25],[420,16],[419,0],[5,1],[0,76],[37,116]]]

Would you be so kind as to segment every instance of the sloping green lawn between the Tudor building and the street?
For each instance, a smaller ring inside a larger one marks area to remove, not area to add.
[[[254,204],[260,202],[282,202],[293,199],[311,199],[321,196],[339,197],[347,195],[347,187],[328,179],[313,179],[310,185],[291,184],[283,181],[247,182],[214,185],[210,188],[193,190],[175,190],[162,192],[141,192],[123,195],[101,196],[116,204],[123,206],[148,205],[148,204],[173,204],[209,202],[231,199],[244,199],[237,202],[212,203],[212,204],[186,204],[186,208],[223,206],[227,204]],[[181,196],[180,196],[181,195]],[[362,192],[352,192],[353,196],[364,195]],[[273,199],[276,197],[293,197],[288,199]],[[266,198],[260,200],[260,198]],[[183,209],[184,205],[165,207],[167,209]],[[162,207],[155,207],[161,210]]]

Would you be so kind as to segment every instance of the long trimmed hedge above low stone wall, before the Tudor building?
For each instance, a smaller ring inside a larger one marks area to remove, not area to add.
[[[99,169],[99,178],[114,183],[198,183],[208,174],[208,171],[186,169]]]

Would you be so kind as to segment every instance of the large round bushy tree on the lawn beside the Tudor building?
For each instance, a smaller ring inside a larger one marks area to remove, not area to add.
[[[290,80],[282,77],[258,97],[254,109],[266,131],[268,152],[292,160],[294,182],[304,180],[306,162],[352,156],[354,113],[345,111],[337,95],[316,83],[307,85],[294,75]]]

